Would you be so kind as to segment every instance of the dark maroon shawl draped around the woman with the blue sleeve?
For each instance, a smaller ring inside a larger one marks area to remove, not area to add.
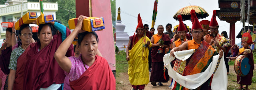
[[[70,33],[70,30],[66,28],[66,36]],[[38,90],[64,82],[66,75],[54,59],[54,54],[62,43],[61,36],[62,34],[54,35],[50,44],[39,52],[40,42],[36,42],[34,47],[26,50],[27,52],[25,51],[26,53],[24,52],[18,58],[16,71],[18,79],[16,78],[14,82],[18,85],[14,86],[16,90]],[[72,45],[68,48],[66,56],[74,56]]]

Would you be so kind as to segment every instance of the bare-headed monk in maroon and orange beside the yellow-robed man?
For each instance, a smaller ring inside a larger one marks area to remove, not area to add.
[[[159,25],[157,27],[157,34],[154,34],[150,41],[152,42],[152,51],[151,51],[151,59],[152,59],[152,71],[150,76],[150,82],[153,86],[156,86],[156,82],[159,82],[158,85],[162,86],[163,84],[161,82],[168,82],[169,75],[167,70],[165,71],[164,77],[164,52],[167,47],[170,47],[170,38],[163,33],[164,27],[162,25]],[[163,45],[161,45],[158,41],[162,39],[164,41]],[[162,46],[162,53],[158,53],[159,47]]]

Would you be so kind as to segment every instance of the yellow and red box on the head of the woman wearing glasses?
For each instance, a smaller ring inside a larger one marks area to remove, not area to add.
[[[36,12],[28,12],[25,15],[23,15],[17,23],[15,23],[15,29],[20,30],[20,26],[23,24],[30,24],[34,21],[36,21],[37,13]]]

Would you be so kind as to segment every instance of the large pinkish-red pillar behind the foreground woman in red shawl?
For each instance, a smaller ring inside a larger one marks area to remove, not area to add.
[[[116,70],[112,64],[116,64],[115,47],[112,28],[112,16],[110,0],[91,0],[92,17],[103,17],[105,29],[96,31],[99,37],[98,50],[108,61],[111,70]],[[90,16],[89,0],[76,0],[76,17],[80,15]]]

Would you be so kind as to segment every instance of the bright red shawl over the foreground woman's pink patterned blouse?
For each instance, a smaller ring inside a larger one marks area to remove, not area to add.
[[[79,79],[70,82],[70,88],[72,90],[115,90],[116,79],[108,61],[96,55],[92,66]]]

